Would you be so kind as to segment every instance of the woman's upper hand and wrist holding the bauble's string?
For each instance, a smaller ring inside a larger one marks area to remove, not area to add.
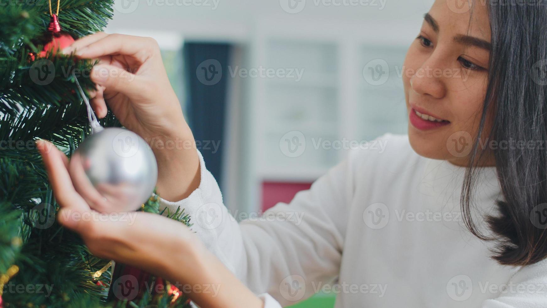
[[[97,116],[107,114],[108,103],[120,123],[152,147],[161,196],[169,201],[187,197],[200,182],[199,158],[158,43],[152,38],[98,32],[63,50],[72,52],[100,61],[91,71],[91,80],[98,85],[91,98]]]

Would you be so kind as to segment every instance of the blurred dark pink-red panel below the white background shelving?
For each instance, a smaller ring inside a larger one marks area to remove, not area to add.
[[[262,210],[277,204],[289,203],[294,195],[301,190],[310,189],[311,183],[263,182],[262,183]]]

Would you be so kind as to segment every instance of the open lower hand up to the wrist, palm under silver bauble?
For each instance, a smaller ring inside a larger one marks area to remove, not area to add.
[[[166,262],[171,258],[162,260],[164,258],[158,258],[160,255],[190,255],[191,249],[184,253],[181,251],[189,247],[199,250],[201,242],[187,226],[173,219],[144,212],[101,214],[91,210],[74,189],[68,173],[67,156],[49,142],[38,141],[36,144],[55,199],[61,206],[57,219],[79,233],[92,254],[164,275],[169,270]],[[162,253],[151,253],[157,251]]]

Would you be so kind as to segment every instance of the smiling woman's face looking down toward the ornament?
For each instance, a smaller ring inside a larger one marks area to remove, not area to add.
[[[470,9],[468,1],[435,1],[404,63],[412,148],[463,166],[477,135],[488,78],[490,23],[481,3]],[[490,126],[487,121],[485,133]]]

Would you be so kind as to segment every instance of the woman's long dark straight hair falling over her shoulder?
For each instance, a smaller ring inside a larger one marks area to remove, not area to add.
[[[528,265],[547,257],[547,149],[542,142],[547,140],[547,7],[518,0],[504,3],[488,5],[492,50],[478,136],[491,117],[491,140],[527,145],[493,150],[503,195],[499,214],[486,217],[493,235],[478,231],[471,217],[478,165],[485,154],[479,138],[470,155],[461,204],[467,228],[482,240],[496,242],[494,259]]]

